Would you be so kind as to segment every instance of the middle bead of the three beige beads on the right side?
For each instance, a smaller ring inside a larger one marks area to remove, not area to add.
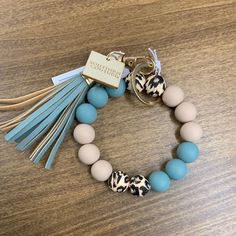
[[[193,121],[196,116],[197,109],[190,102],[182,102],[175,108],[175,118],[182,123]]]

